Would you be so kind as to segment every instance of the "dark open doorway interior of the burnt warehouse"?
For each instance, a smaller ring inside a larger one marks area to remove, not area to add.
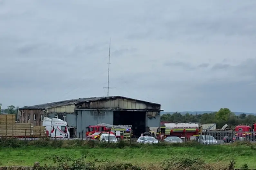
[[[114,111],[114,125],[132,125],[133,135],[139,137],[146,129],[146,112]]]

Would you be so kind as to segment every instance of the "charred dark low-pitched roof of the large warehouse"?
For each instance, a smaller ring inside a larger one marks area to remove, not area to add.
[[[19,110],[41,110],[41,109],[61,107],[61,106],[67,106],[67,105],[77,105],[77,104],[84,103],[84,102],[109,100],[109,99],[114,99],[114,98],[124,98],[124,99],[139,101],[139,102],[146,103],[149,105],[161,106],[160,104],[157,104],[157,103],[147,102],[147,101],[143,101],[143,100],[137,100],[137,99],[133,99],[133,98],[127,98],[127,97],[122,97],[122,96],[109,96],[109,97],[92,97],[92,98],[77,98],[77,99],[71,99],[71,100],[63,100],[63,101],[59,101],[59,102],[45,103],[45,104],[41,104],[41,105],[25,106],[25,107],[19,108]]]

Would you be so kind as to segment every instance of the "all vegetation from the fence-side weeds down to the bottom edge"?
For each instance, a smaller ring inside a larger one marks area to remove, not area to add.
[[[157,145],[98,143],[82,140],[0,139],[0,166],[32,166],[42,170],[76,169],[232,169],[256,167],[256,144],[205,146],[196,142]],[[45,164],[45,165],[44,165]]]

